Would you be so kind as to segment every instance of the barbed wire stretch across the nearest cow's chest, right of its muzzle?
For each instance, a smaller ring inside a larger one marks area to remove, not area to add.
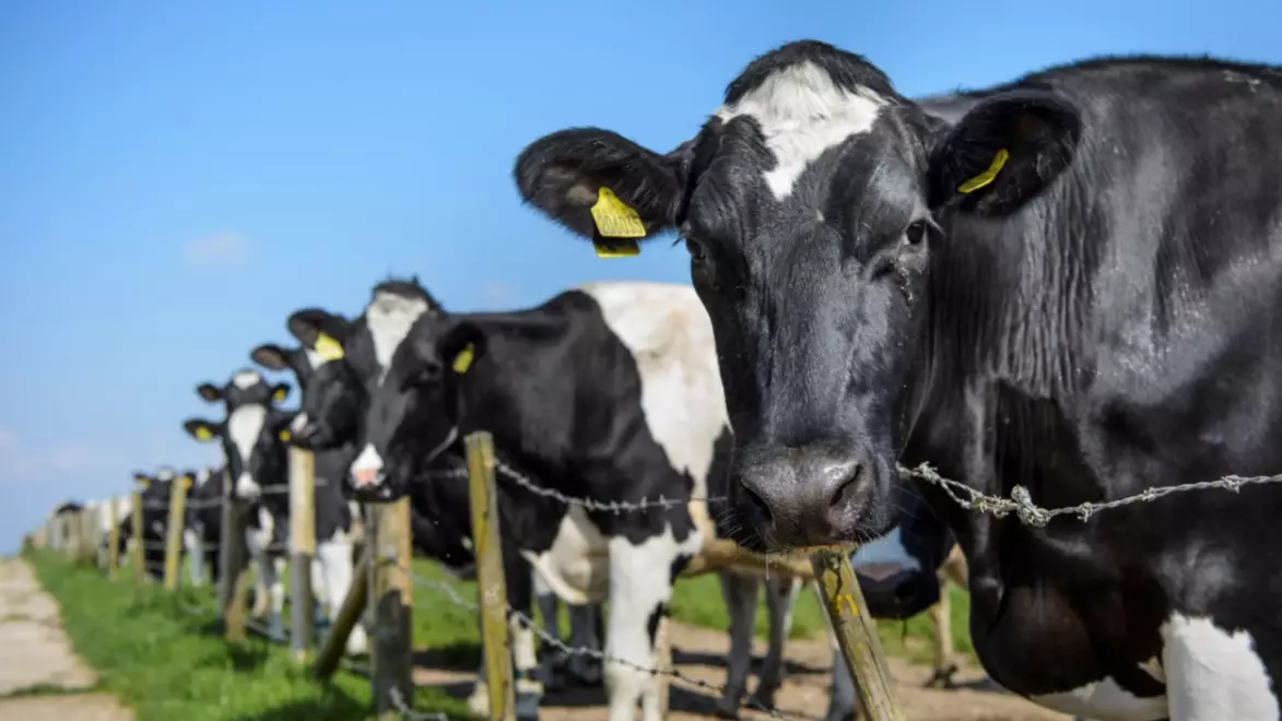
[[[1122,506],[1129,506],[1132,503],[1146,503],[1174,493],[1209,489],[1224,489],[1237,493],[1244,485],[1282,483],[1282,475],[1226,475],[1215,480],[1203,480],[1181,485],[1149,487],[1140,493],[1124,496],[1113,501],[1088,501],[1059,508],[1042,508],[1033,502],[1028,489],[1023,485],[1015,485],[1011,488],[1010,497],[1006,498],[1003,496],[990,496],[976,490],[964,483],[944,478],[929,464],[920,464],[915,469],[900,466],[900,470],[913,478],[938,485],[954,502],[968,511],[990,514],[999,519],[1015,514],[1020,523],[1033,528],[1045,528],[1051,519],[1068,515],[1077,516],[1085,523],[1091,520],[1091,516],[1100,511],[1120,508]],[[964,498],[963,494],[965,496]]]

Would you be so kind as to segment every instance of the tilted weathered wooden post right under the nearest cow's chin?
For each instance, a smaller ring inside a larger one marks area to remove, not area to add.
[[[850,557],[840,551],[817,551],[810,556],[823,607],[832,621],[837,647],[855,679],[859,704],[870,721],[904,721],[886,657],[873,619],[864,612],[864,594],[850,567]]]

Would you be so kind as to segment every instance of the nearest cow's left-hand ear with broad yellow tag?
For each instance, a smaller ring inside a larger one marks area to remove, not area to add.
[[[597,255],[636,255],[638,239],[676,225],[688,147],[659,155],[600,128],[558,131],[517,158],[517,190]]]

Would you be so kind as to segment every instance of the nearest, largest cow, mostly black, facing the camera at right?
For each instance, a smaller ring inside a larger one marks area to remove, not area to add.
[[[681,234],[745,542],[804,547],[881,533],[897,462],[1042,507],[1282,470],[1279,117],[1278,67],[1106,58],[914,102],[795,42],[668,155],[562,131],[517,181],[586,237],[601,187]],[[1037,528],[915,485],[1003,686],[1081,716],[1279,717],[1282,488]]]

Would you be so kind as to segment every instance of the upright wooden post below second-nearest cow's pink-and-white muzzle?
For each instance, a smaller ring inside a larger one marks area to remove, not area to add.
[[[374,713],[395,713],[392,693],[404,703],[414,698],[410,603],[413,584],[401,566],[410,562],[409,497],[374,506],[373,523],[374,633],[370,647]],[[368,529],[367,529],[368,531]]]

